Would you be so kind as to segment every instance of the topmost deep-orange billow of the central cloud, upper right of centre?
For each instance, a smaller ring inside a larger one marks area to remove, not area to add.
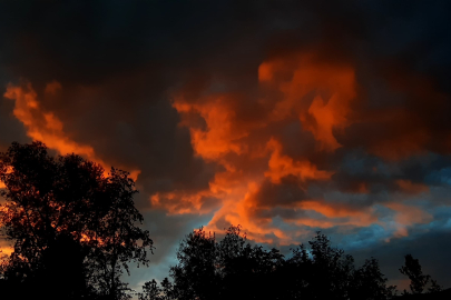
[[[290,80],[285,80],[287,74]],[[351,67],[320,62],[313,54],[301,54],[262,63],[258,79],[284,93],[283,101],[274,108],[274,119],[284,119],[295,111],[304,130],[315,137],[320,150],[333,151],[340,147],[333,131],[351,123],[347,119],[350,106],[356,97]],[[312,92],[313,101],[308,99]]]

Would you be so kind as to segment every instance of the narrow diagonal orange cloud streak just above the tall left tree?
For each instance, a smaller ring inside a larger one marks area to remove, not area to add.
[[[55,94],[61,89],[61,84],[53,81],[47,84],[45,92]],[[102,161],[91,146],[80,144],[73,141],[63,130],[62,121],[51,111],[45,111],[38,101],[38,94],[28,83],[26,87],[8,84],[4,98],[14,100],[14,117],[23,123],[27,136],[33,140],[40,140],[47,147],[57,150],[60,154],[77,153],[85,156],[109,170],[109,166]],[[139,170],[133,170],[130,176],[136,180]]]

